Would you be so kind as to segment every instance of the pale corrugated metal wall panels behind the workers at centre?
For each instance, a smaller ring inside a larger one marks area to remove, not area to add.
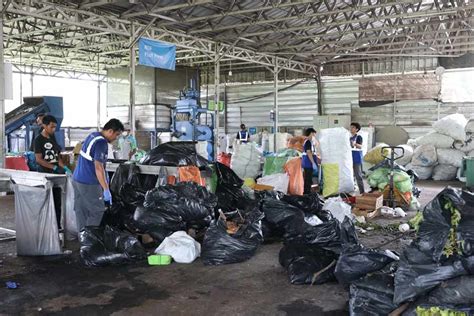
[[[206,87],[204,87],[206,88]],[[279,125],[292,130],[313,126],[318,113],[318,92],[314,80],[278,84]],[[221,88],[221,98],[226,98],[226,114],[221,115],[221,127],[227,133],[239,130],[241,123],[248,127],[271,129],[270,111],[273,109],[273,83],[234,84]],[[225,93],[224,93],[225,91]],[[214,87],[209,86],[209,99],[214,97]],[[322,104],[324,114],[350,114],[351,106],[358,104],[357,80],[323,80]],[[201,90],[205,104],[206,91]]]

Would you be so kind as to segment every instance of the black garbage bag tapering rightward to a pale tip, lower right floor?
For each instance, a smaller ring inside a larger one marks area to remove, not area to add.
[[[390,251],[377,251],[362,245],[344,247],[337,260],[334,275],[341,284],[349,284],[371,272],[376,272],[387,264],[398,260]]]

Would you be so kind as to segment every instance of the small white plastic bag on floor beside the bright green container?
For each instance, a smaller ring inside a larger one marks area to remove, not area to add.
[[[186,232],[177,231],[166,237],[155,253],[171,256],[178,263],[191,263],[201,255],[201,245]]]

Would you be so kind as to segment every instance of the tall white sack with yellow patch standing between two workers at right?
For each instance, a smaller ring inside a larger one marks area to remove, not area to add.
[[[350,133],[343,127],[323,129],[318,134],[325,197],[354,191]]]

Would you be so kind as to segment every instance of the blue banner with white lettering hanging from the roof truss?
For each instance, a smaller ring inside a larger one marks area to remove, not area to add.
[[[138,63],[155,68],[174,70],[176,45],[140,38],[138,41]]]

